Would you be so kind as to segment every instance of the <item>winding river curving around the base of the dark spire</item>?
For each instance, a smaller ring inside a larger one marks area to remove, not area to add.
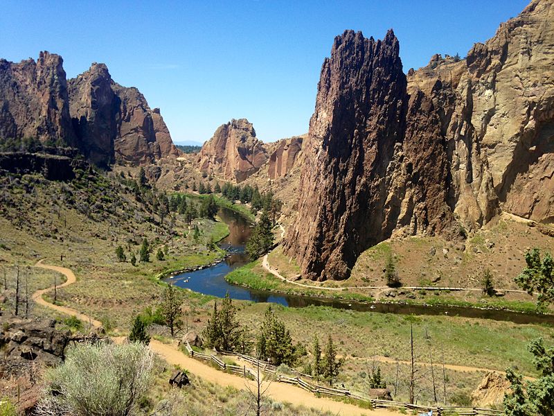
[[[350,302],[346,300],[328,300],[319,297],[298,295],[282,295],[267,291],[254,291],[250,288],[229,284],[225,276],[240,266],[248,263],[244,254],[244,244],[251,234],[251,225],[240,214],[231,209],[221,208],[218,214],[229,225],[229,236],[220,242],[220,247],[229,252],[229,257],[202,270],[185,272],[175,277],[168,277],[165,281],[171,282],[180,288],[191,291],[224,297],[229,296],[236,300],[250,300],[253,302],[269,302],[301,308],[305,306],[331,306],[338,309],[352,311],[373,311],[379,313],[400,313],[402,315],[444,315],[463,316],[467,318],[484,318],[492,320],[511,321],[517,324],[551,323],[554,324],[554,315],[540,315],[537,313],[517,313],[491,309],[466,308],[462,306],[425,306],[408,304],[384,304],[379,302]]]

